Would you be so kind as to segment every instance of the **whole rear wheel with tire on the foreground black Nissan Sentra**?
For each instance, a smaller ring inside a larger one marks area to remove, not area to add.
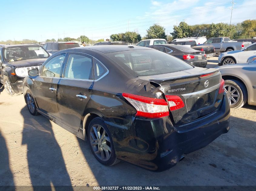
[[[101,117],[91,120],[87,136],[91,152],[101,164],[112,166],[119,162],[115,155],[111,133]]]

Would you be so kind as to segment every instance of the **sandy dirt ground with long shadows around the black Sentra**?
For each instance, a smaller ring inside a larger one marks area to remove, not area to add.
[[[216,67],[217,59],[210,58],[208,67]],[[154,173],[125,162],[106,167],[88,142],[41,115],[30,115],[23,95],[8,96],[1,87],[0,186],[256,186],[256,107],[231,109],[230,124],[228,133],[167,171]]]

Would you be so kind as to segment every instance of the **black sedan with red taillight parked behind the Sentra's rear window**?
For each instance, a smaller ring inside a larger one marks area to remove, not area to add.
[[[191,65],[205,68],[207,65],[206,54],[204,51],[192,49],[188,46],[176,45],[176,44],[161,44],[148,46],[160,50],[164,53],[175,56],[181,60],[188,62]]]

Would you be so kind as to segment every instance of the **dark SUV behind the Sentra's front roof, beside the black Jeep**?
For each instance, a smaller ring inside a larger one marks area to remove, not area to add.
[[[65,50],[65,49],[69,49],[69,48],[76,48],[76,47],[80,47],[78,43],[75,42],[47,42],[43,45],[44,49],[48,52],[48,53],[56,53],[60,50]]]

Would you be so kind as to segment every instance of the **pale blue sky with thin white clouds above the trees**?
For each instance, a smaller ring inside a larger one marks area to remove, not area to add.
[[[232,0],[11,0],[1,1],[1,40],[46,39],[85,35],[93,40],[136,31],[144,37],[153,24],[173,31],[181,21],[230,23]],[[12,3],[11,3],[12,2]],[[256,19],[255,0],[234,0],[231,24]]]

